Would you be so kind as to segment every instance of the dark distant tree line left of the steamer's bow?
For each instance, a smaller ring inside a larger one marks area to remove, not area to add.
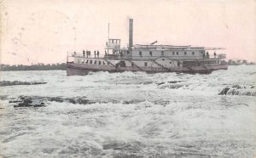
[[[51,65],[0,65],[0,71],[49,71],[49,70],[66,70],[66,63],[57,63]]]

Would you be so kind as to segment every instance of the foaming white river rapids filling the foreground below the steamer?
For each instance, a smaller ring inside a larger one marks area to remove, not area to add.
[[[256,155],[255,65],[209,75],[0,73],[1,81],[47,82],[0,87],[0,157]],[[14,108],[20,96],[46,106]]]

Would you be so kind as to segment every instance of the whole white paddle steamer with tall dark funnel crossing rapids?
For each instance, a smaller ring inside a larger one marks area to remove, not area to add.
[[[210,73],[228,69],[225,54],[216,54],[223,48],[157,45],[156,42],[133,45],[133,20],[129,19],[127,48],[120,47],[120,39],[108,36],[103,57],[99,57],[98,51],[84,50],[81,54],[74,52],[67,56],[67,76],[87,75],[90,71]],[[214,54],[208,51],[214,51]]]

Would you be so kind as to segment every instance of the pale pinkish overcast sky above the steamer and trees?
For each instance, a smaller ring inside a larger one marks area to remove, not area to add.
[[[1,0],[1,63],[66,62],[67,52],[100,50],[108,38],[134,44],[226,48],[228,59],[256,61],[253,0]],[[218,53],[218,52],[217,52]]]

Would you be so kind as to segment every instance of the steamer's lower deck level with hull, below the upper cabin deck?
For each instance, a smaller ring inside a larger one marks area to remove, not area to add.
[[[90,71],[146,71],[156,72],[185,72],[210,73],[216,70],[226,70],[227,64],[219,59],[178,61],[167,58],[155,60],[116,60],[116,59],[81,59],[78,62],[67,62],[67,76],[86,75]]]

